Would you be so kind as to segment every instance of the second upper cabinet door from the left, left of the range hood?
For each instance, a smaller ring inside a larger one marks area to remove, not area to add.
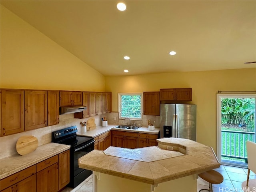
[[[47,91],[25,91],[25,130],[47,126]]]

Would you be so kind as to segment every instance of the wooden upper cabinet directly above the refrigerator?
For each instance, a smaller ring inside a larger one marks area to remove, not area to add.
[[[192,101],[192,88],[160,89],[160,100]]]

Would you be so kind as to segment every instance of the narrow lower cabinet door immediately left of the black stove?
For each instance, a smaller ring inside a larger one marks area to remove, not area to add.
[[[59,154],[59,189],[70,182],[70,150]]]

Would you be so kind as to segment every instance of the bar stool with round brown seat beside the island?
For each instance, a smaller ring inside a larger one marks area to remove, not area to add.
[[[199,190],[199,192],[202,190],[213,192],[212,184],[220,184],[223,182],[222,174],[220,174],[219,172],[214,171],[214,170],[200,173],[200,174],[198,174],[198,176],[200,176],[200,178],[202,178],[203,180],[206,180],[207,182],[209,182],[209,189],[201,189],[201,190]]]

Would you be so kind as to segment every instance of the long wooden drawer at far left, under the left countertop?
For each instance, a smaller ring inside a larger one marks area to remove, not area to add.
[[[13,184],[20,182],[21,180],[28,178],[29,176],[31,176],[33,174],[36,174],[36,166],[35,165],[28,167],[20,172],[14,173],[11,176],[8,176],[4,179],[1,179],[0,180],[0,190],[3,190],[9,186],[12,186]]]

